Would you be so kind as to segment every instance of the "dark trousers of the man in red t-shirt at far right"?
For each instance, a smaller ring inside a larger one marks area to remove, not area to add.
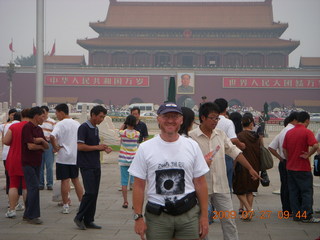
[[[310,219],[313,205],[313,177],[311,172],[288,170],[290,205],[294,220]],[[305,214],[306,218],[299,218]]]

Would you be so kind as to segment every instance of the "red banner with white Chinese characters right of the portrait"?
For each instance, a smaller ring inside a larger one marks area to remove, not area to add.
[[[320,79],[224,77],[223,88],[320,89]]]

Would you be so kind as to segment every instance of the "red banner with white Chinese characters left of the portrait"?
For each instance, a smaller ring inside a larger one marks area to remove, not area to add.
[[[46,86],[149,87],[148,76],[46,75]]]

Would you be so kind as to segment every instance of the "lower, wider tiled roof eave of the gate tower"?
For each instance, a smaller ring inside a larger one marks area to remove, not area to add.
[[[137,49],[281,49],[292,52],[300,41],[282,40],[282,39],[190,39],[190,38],[93,38],[78,40],[77,43],[87,50],[91,49],[110,49],[110,48],[137,48]]]

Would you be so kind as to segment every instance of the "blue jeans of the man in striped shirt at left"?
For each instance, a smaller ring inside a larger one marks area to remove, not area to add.
[[[44,186],[44,167],[46,167],[46,180],[47,187],[53,186],[53,163],[54,163],[54,153],[52,144],[49,143],[49,148],[42,153],[42,163],[40,167],[40,184],[39,186]]]

